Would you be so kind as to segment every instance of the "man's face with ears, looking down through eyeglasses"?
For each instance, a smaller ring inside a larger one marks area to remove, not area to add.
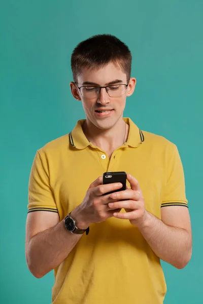
[[[119,66],[108,63],[95,70],[84,68],[78,77],[77,86],[104,87],[112,84],[127,84],[127,77]],[[96,97],[87,98],[81,95],[77,86],[71,83],[72,94],[77,100],[82,101],[88,125],[94,125],[99,129],[110,129],[122,120],[126,97],[132,95],[136,79],[130,78],[125,94],[119,97],[110,97],[103,88]]]

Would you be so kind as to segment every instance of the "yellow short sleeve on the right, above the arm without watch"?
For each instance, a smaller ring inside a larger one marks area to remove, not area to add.
[[[170,147],[167,161],[167,182],[161,207],[185,206],[188,207],[185,194],[185,178],[183,165],[175,144]]]

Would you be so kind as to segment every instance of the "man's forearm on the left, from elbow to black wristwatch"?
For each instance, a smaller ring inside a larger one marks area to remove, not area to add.
[[[63,220],[33,236],[26,245],[30,272],[37,278],[46,275],[69,255],[82,236],[67,231]]]

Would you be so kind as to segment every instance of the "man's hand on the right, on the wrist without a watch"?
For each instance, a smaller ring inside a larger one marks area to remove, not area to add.
[[[145,222],[148,215],[145,209],[144,197],[137,179],[127,174],[127,180],[131,188],[126,185],[126,190],[112,193],[110,198],[114,200],[114,203],[109,203],[109,207],[112,209],[124,208],[126,213],[115,211],[113,216],[129,219],[132,225],[139,226]]]

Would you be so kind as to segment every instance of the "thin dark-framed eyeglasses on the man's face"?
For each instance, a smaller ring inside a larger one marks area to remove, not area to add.
[[[75,83],[76,85],[76,83]],[[77,86],[77,85],[76,85]],[[128,84],[111,85],[107,87],[82,86],[78,87],[81,95],[86,98],[96,98],[100,94],[101,89],[105,88],[109,97],[119,97],[125,94]]]

